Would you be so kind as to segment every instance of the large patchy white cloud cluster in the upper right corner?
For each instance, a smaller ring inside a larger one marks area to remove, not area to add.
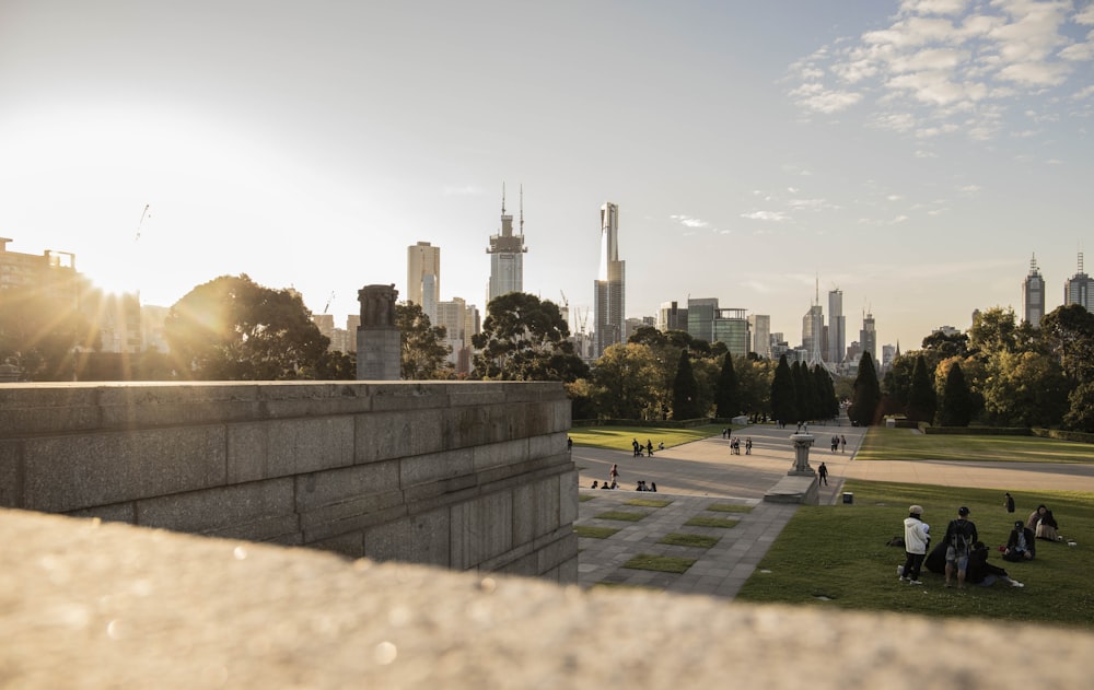
[[[865,106],[875,110],[869,120],[878,129],[993,139],[1008,122],[996,109],[1022,100],[1050,105],[1062,97],[1055,90],[1075,79],[1076,66],[1094,60],[1094,32],[1079,40],[1069,35],[1076,24],[1094,25],[1094,4],[1079,11],[1074,4],[904,0],[887,25],[836,40],[792,66],[808,77],[788,95],[821,115]],[[981,115],[985,104],[991,107]]]

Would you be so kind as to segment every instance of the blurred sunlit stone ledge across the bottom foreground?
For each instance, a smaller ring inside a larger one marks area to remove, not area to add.
[[[0,511],[0,539],[4,688],[1081,688],[1094,650],[1072,629],[582,593],[24,511]]]

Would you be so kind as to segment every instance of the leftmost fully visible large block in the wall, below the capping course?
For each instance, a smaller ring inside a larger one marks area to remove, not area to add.
[[[223,426],[27,438],[24,505],[65,513],[225,481]]]

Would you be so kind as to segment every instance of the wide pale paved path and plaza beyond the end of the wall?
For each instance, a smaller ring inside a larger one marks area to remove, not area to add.
[[[581,504],[575,525],[619,529],[606,539],[581,537],[578,557],[582,587],[616,584],[652,587],[679,593],[709,594],[733,598],[767,553],[768,548],[796,512],[796,505],[765,503],[764,495],[793,466],[790,434],[794,428],[755,425],[733,433],[741,437],[741,455],[731,455],[721,437],[696,441],[633,457],[630,446],[618,451],[574,446],[573,460],[580,475]],[[854,461],[863,429],[813,425],[816,443],[810,464],[823,461],[828,468],[828,486],[821,487],[821,503],[842,499],[845,479],[895,481],[948,487],[997,487],[1022,490],[1071,490],[1094,492],[1094,465],[1046,465],[1037,463]],[[908,433],[912,433],[910,430]],[[846,452],[831,453],[833,434],[847,437]],[[745,455],[744,440],[752,437],[753,452]],[[647,437],[638,440],[642,444]],[[650,437],[656,446],[659,440]],[[620,489],[590,489],[593,481],[608,478],[618,466]],[[633,491],[638,480],[656,482],[657,493]],[[627,505],[635,500],[671,500],[665,507]],[[726,513],[708,510],[712,504],[750,507],[749,512]],[[647,514],[639,522],[598,517],[609,511]],[[696,516],[740,518],[735,527],[685,526]],[[682,533],[718,537],[710,548],[659,543],[668,534]],[[640,553],[697,559],[683,574],[624,568]]]

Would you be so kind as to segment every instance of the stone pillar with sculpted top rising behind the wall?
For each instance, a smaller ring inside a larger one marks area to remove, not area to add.
[[[357,328],[357,377],[359,381],[403,378],[403,347],[395,325],[394,284],[365,285],[357,293],[361,325]]]

